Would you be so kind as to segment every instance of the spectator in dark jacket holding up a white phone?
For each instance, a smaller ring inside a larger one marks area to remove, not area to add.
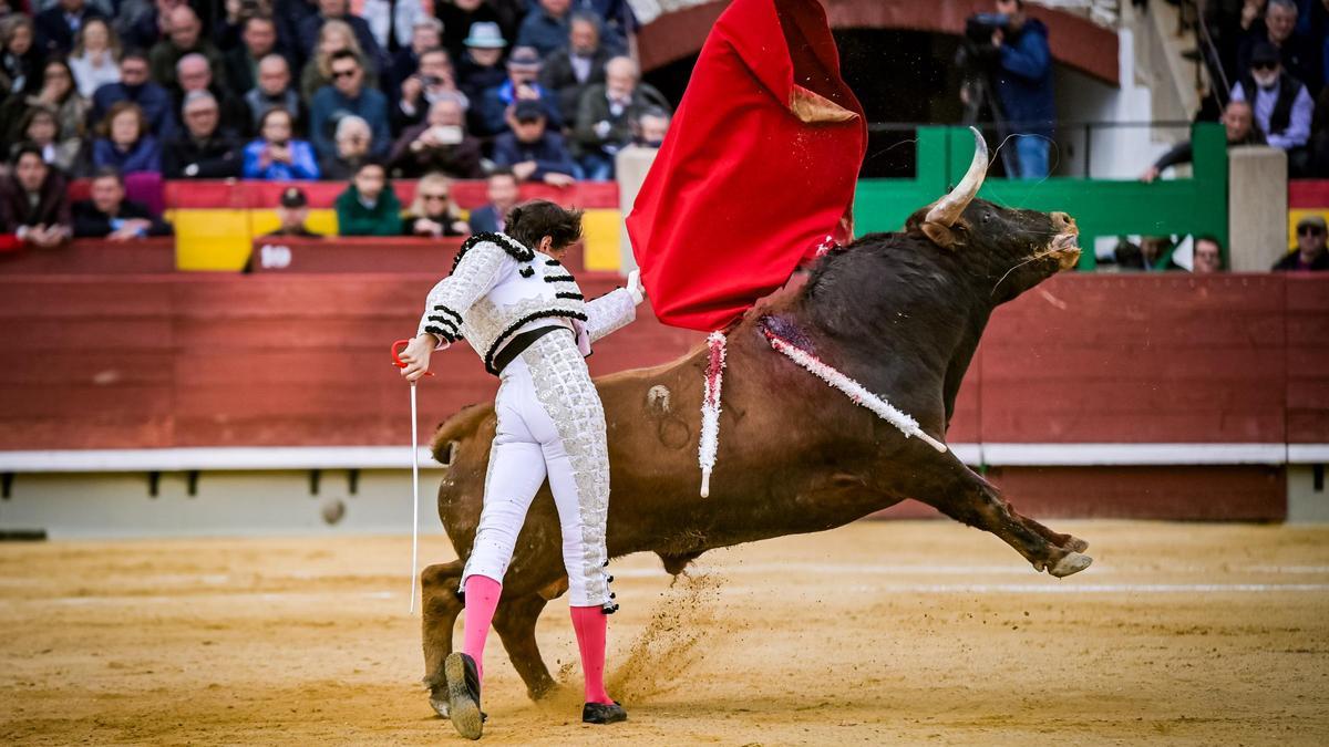
[[[396,175],[416,178],[441,171],[456,179],[482,175],[480,141],[466,134],[461,100],[447,97],[429,108],[428,121],[401,133],[392,148],[391,166]]]

